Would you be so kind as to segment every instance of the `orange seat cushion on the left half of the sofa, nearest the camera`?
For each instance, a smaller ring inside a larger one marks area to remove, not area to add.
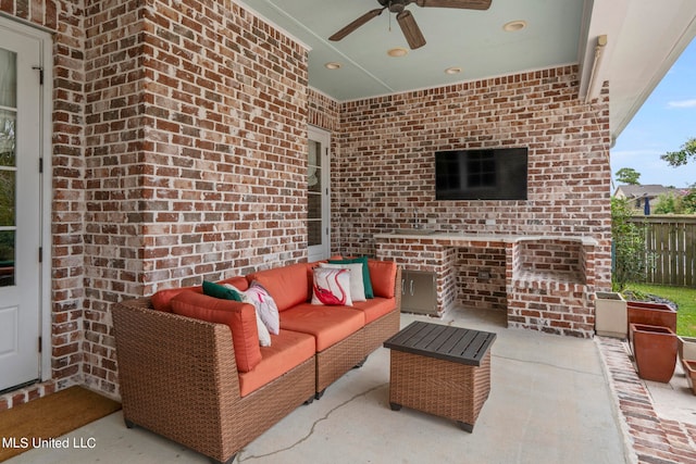
[[[314,355],[314,337],[290,330],[271,335],[271,346],[261,347],[261,362],[253,371],[239,373],[243,397],[281,377]]]

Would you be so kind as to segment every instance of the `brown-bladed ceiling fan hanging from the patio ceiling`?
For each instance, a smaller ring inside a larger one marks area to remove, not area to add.
[[[356,30],[358,27],[365,24],[382,14],[386,9],[389,9],[390,13],[396,13],[396,21],[401,27],[401,32],[406,37],[406,41],[409,42],[411,49],[417,49],[425,45],[425,37],[418,27],[415,18],[406,7],[410,3],[415,3],[423,8],[460,8],[467,10],[487,10],[490,7],[492,0],[377,0],[382,8],[370,10],[352,23],[348,24],[343,29],[331,36],[328,40],[338,41],[346,37],[348,34]]]

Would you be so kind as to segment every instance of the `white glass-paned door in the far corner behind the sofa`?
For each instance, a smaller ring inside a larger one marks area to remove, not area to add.
[[[327,131],[309,127],[307,228],[309,261],[325,260],[331,254],[331,136]]]

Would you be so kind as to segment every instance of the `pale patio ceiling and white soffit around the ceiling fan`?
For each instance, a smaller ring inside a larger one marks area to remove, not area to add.
[[[587,91],[597,36],[608,45],[598,71],[610,80],[613,137],[625,127],[696,35],[694,0],[493,0],[488,10],[407,7],[427,43],[403,58],[387,50],[408,45],[385,10],[341,41],[328,37],[377,0],[238,1],[309,49],[309,84],[348,101],[577,63]],[[508,33],[504,25],[525,21]],[[324,64],[340,63],[330,71]],[[448,67],[461,67],[456,75]],[[601,81],[600,80],[600,81]],[[592,97],[595,97],[593,95]]]

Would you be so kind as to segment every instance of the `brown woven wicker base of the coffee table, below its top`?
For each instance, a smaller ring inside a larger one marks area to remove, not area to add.
[[[481,366],[390,352],[389,403],[455,419],[472,431],[490,391],[490,351]]]

